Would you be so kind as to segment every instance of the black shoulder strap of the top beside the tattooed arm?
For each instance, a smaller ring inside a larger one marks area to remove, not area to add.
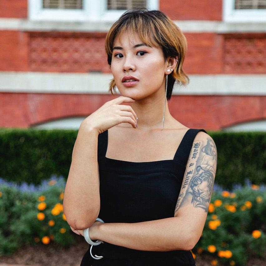
[[[182,165],[184,165],[186,167],[186,163],[192,148],[192,144],[193,141],[197,135],[197,133],[199,133],[200,131],[203,131],[205,133],[207,133],[204,129],[194,129],[194,128],[190,128],[185,136],[183,137],[177,152],[175,154],[174,160],[180,162]]]

